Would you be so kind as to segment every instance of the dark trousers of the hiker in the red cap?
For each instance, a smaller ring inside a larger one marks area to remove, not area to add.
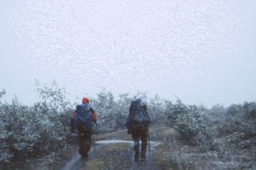
[[[79,154],[82,156],[88,156],[90,151],[90,145],[92,144],[92,131],[80,130],[79,131]]]

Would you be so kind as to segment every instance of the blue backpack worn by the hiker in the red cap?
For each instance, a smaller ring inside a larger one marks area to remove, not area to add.
[[[76,106],[75,126],[79,130],[92,129],[92,111],[88,103]]]

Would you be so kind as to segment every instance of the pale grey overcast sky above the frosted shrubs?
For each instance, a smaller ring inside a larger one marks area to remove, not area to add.
[[[255,101],[256,1],[0,2],[0,90],[35,79],[75,96],[147,91],[185,104]]]

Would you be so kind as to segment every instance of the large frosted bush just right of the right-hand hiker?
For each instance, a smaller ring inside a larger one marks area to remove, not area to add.
[[[181,137],[192,145],[200,145],[203,150],[209,144],[207,134],[208,120],[205,113],[196,105],[185,105],[177,99],[176,104],[166,101],[166,114],[168,123],[177,130]]]

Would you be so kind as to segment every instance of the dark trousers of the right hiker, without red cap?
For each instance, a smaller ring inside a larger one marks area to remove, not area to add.
[[[146,149],[147,149],[147,128],[134,128],[131,131],[131,137],[134,141],[134,153],[135,160],[139,158],[139,140],[141,139],[141,158],[146,158]]]

